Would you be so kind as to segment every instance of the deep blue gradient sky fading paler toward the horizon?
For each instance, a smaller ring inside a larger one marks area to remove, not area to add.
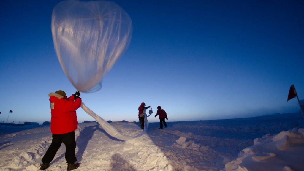
[[[54,51],[60,1],[0,2],[0,121],[50,121],[49,92],[76,89]],[[304,99],[304,1],[114,1],[130,15],[130,47],[83,102],[105,120],[138,121],[140,103],[168,121],[298,112]],[[94,120],[81,108],[78,121]],[[153,114],[153,116],[154,116]],[[158,118],[149,117],[150,122]]]

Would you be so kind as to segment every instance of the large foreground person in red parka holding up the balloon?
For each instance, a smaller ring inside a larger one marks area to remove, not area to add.
[[[65,159],[67,162],[67,170],[77,169],[79,163],[75,156],[75,130],[78,129],[78,121],[76,116],[76,110],[81,105],[80,92],[67,98],[66,94],[62,90],[51,92],[50,107],[51,107],[51,132],[52,143],[47,149],[47,152],[42,158],[42,165],[40,170],[45,170],[49,167],[50,162],[54,159],[55,154],[61,146],[61,143],[65,145]]]

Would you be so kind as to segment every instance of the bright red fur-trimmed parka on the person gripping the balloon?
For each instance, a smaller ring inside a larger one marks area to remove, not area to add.
[[[51,92],[51,132],[52,134],[64,134],[78,129],[76,109],[81,105],[81,98],[74,99],[74,96],[63,97]]]

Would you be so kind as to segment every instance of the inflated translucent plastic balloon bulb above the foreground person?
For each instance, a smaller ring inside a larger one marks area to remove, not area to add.
[[[60,65],[80,92],[96,92],[102,78],[129,46],[132,20],[116,3],[63,1],[52,14],[52,35]]]

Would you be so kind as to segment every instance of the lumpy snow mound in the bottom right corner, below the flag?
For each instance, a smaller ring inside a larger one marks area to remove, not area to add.
[[[288,153],[288,155],[286,155]],[[302,170],[304,163],[304,129],[294,128],[254,139],[254,145],[243,149],[238,158],[226,163],[226,171]]]

